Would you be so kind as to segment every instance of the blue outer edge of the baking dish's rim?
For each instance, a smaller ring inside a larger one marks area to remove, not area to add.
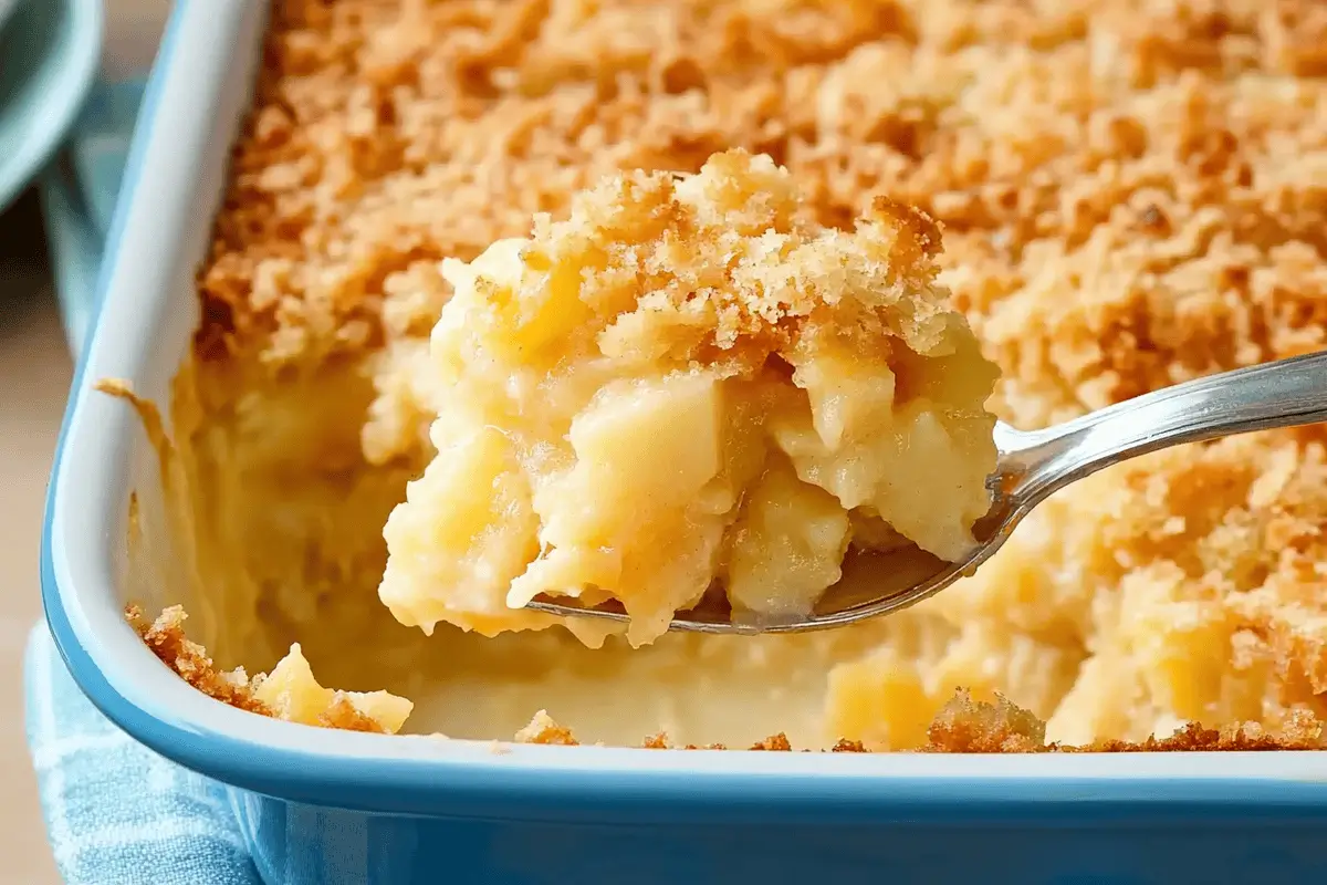
[[[129,153],[122,199],[107,236],[106,255],[119,248],[126,207],[143,174],[143,155],[159,111],[163,72],[176,49],[178,23],[188,4],[176,5],[153,69]],[[111,261],[97,280],[93,322],[100,321]],[[272,747],[219,734],[165,710],[154,715],[135,705],[84,647],[57,586],[52,556],[56,486],[70,417],[78,409],[89,334],[76,368],[46,494],[41,539],[42,604],[56,646],[89,699],[131,736],[174,762],[226,784],[292,801],[346,809],[466,819],[573,820],[640,824],[792,824],[820,827],[909,823],[929,825],[1185,827],[1229,824],[1246,828],[1287,821],[1327,820],[1327,783],[1281,778],[820,778],[816,775],[690,771],[686,768],[597,771],[592,764],[531,768],[449,758],[337,758]],[[96,644],[96,642],[94,642]],[[123,675],[119,677],[123,679]],[[183,683],[180,683],[183,685]],[[251,716],[238,710],[227,713]],[[263,722],[267,727],[297,727]],[[261,734],[260,727],[253,728]],[[349,735],[365,738],[368,735]],[[405,738],[397,738],[405,739]],[[551,752],[587,752],[537,747]],[[649,754],[658,751],[638,750]],[[705,751],[697,751],[705,752]],[[644,758],[644,756],[642,756]],[[593,756],[587,755],[587,760]],[[1067,760],[1067,758],[1063,758]],[[1082,756],[1080,756],[1082,759]],[[843,760],[843,758],[840,758]]]

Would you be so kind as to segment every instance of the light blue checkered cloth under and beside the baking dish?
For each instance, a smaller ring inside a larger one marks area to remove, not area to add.
[[[94,309],[101,247],[142,82],[100,84],[40,182],[70,345]],[[60,873],[69,885],[260,885],[226,791],[137,743],[69,675],[45,624],[28,641],[28,746]]]

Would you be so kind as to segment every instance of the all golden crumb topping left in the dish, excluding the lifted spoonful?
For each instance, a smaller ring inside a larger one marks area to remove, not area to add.
[[[941,224],[940,283],[1020,427],[1327,344],[1316,0],[277,0],[196,353],[275,378],[364,357],[377,401],[344,409],[365,459],[422,468],[439,261],[567,218],[605,176],[734,147],[787,167],[821,224],[880,196]],[[955,685],[1072,746],[1233,746],[1184,723],[1322,718],[1324,442],[1196,446],[1062,494],[975,579],[848,632],[839,748],[934,740]],[[896,641],[914,625],[928,642]]]

